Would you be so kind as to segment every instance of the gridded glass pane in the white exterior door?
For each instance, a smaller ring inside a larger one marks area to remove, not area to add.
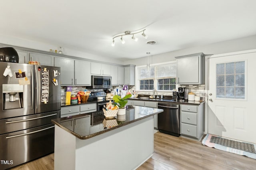
[[[216,64],[216,97],[245,99],[245,62]]]

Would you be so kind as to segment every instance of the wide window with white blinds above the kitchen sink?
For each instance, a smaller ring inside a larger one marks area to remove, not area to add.
[[[173,90],[176,89],[176,63],[164,63],[136,69],[138,90]],[[139,88],[138,88],[139,87]]]

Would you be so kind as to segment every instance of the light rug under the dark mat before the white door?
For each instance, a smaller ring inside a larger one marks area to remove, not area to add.
[[[241,142],[241,143],[247,143],[247,144],[250,144],[252,146],[254,146],[254,150],[256,148],[256,144],[253,144],[253,143],[248,143],[248,142],[244,142],[244,141],[240,141],[240,140],[234,140],[234,139],[229,139],[229,138],[224,138],[224,137],[221,137],[221,136],[216,136],[216,135],[212,135],[212,134],[207,134],[204,139],[202,140],[202,144],[205,146],[208,146],[208,147],[212,147],[212,148],[216,148],[216,149],[219,149],[219,150],[224,150],[224,151],[227,151],[227,152],[231,152],[231,153],[235,153],[235,154],[239,154],[239,155],[244,155],[244,156],[247,156],[249,158],[253,158],[253,159],[256,159],[256,154],[254,153],[251,153],[251,152],[246,152],[244,150],[239,150],[239,149],[236,149],[236,148],[231,148],[231,147],[227,147],[227,146],[223,146],[221,144],[216,144],[214,142],[216,142],[217,140],[219,139],[224,139],[226,141],[231,141],[230,143],[232,143],[232,141],[234,142]]]

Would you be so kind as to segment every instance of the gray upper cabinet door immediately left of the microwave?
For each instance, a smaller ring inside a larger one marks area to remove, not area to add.
[[[91,62],[75,60],[75,85],[91,85]]]

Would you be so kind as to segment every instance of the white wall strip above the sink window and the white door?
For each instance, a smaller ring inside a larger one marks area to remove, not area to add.
[[[175,57],[177,56],[189,55],[189,54],[200,53],[200,52],[208,55],[208,54],[222,54],[222,53],[229,53],[229,52],[236,52],[236,51],[244,51],[248,49],[256,49],[256,35],[235,39],[235,40],[229,40],[225,42],[213,43],[213,44],[153,55],[152,61],[154,64],[154,63],[162,63],[166,61],[174,61]],[[128,60],[126,61],[126,63],[134,64],[134,65],[146,65],[148,63],[148,57]],[[151,64],[151,56],[149,57],[149,63]]]

